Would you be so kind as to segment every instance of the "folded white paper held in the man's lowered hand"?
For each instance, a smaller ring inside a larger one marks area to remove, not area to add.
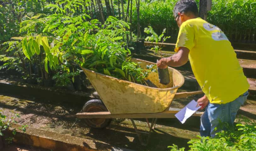
[[[185,121],[200,108],[201,106],[197,107],[197,102],[195,102],[195,100],[192,100],[183,109],[176,113],[175,116],[182,124],[184,124]]]

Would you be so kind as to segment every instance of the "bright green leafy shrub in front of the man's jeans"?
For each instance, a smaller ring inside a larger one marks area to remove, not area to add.
[[[235,128],[228,128],[217,133],[216,137],[201,137],[191,139],[188,144],[190,150],[196,151],[249,151],[256,150],[256,123],[249,120],[240,120]],[[242,124],[244,123],[244,124]],[[175,144],[168,146],[171,151],[183,151],[185,148],[178,148]]]

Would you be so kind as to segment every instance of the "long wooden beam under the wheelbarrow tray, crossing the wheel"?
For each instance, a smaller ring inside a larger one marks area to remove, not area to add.
[[[160,113],[111,114],[110,112],[77,113],[77,118],[176,118],[174,115],[180,109],[163,111]],[[193,116],[201,116],[203,112],[196,112]]]

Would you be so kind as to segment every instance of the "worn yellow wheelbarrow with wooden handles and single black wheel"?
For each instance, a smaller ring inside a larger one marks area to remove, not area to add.
[[[141,68],[155,64],[140,59],[132,59]],[[156,68],[154,66],[153,68]],[[179,71],[168,67],[170,83],[162,85],[158,80],[158,73],[151,72],[146,80],[150,80],[157,88],[132,83],[103,75],[86,68],[82,68],[90,83],[98,92],[100,99],[93,99],[85,103],[82,112],[77,113],[77,118],[85,118],[85,122],[92,128],[106,128],[112,118],[129,118],[135,128],[142,145],[147,145],[150,132],[154,129],[157,118],[175,118],[180,109],[171,108],[174,98],[185,98],[189,95],[202,94],[202,91],[176,93],[184,83],[184,77]],[[196,112],[193,116],[201,116]],[[139,131],[134,118],[146,118],[149,131]],[[152,118],[151,124],[148,118]],[[146,134],[146,140],[142,134]]]

